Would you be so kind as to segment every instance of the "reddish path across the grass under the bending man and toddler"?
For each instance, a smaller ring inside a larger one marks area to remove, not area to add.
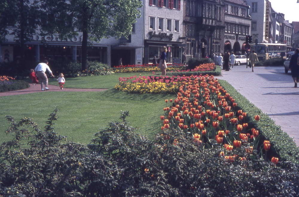
[[[60,90],[59,86],[55,85],[48,85],[49,90],[41,91],[40,84],[30,84],[29,88],[23,90],[15,90],[10,92],[1,92],[0,96],[12,96],[12,95],[19,95],[19,94],[29,94],[29,93],[44,93],[44,92],[100,92],[107,89],[83,89],[83,88],[63,88]]]

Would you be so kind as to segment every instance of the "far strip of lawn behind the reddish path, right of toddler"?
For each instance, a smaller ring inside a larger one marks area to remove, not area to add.
[[[161,72],[155,72],[155,74],[161,75]],[[114,88],[118,83],[120,77],[130,77],[130,76],[149,76],[152,75],[151,72],[145,73],[115,73],[113,75],[103,75],[103,76],[87,76],[87,77],[73,77],[66,78],[65,85],[66,88]],[[49,78],[49,84],[58,85],[56,78]]]

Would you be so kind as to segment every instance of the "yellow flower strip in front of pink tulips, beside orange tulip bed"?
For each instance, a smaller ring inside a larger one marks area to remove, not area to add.
[[[163,83],[131,83],[120,82],[115,86],[115,89],[129,93],[177,93],[180,82]]]

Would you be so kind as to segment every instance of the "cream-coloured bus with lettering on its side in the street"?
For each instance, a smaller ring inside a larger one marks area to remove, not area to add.
[[[255,50],[257,58],[260,60],[279,58],[283,55],[286,58],[286,45],[275,43],[258,43],[250,45],[250,50]]]

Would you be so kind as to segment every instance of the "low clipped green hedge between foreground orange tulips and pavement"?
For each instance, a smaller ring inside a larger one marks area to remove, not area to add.
[[[293,139],[281,127],[258,107],[242,96],[231,84],[225,80],[218,79],[221,86],[235,99],[238,107],[247,113],[249,122],[261,132],[261,140],[267,139],[271,143],[272,154],[277,154],[283,161],[299,163],[299,147]],[[254,116],[259,115],[260,121],[255,121]],[[260,143],[263,143],[260,141]]]

